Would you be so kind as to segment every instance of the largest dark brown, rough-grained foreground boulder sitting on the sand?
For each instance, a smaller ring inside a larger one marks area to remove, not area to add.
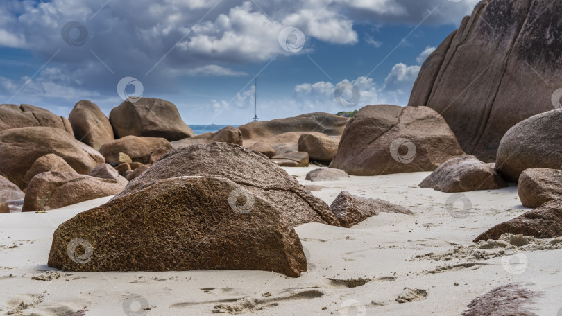
[[[96,272],[264,270],[289,277],[306,271],[300,239],[284,224],[282,211],[257,194],[250,208],[237,211],[233,192],[253,195],[228,179],[176,177],[115,198],[56,229],[49,266]],[[73,240],[91,251],[79,252]]]

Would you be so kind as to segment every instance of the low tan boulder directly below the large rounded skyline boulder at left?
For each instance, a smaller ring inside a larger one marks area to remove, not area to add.
[[[163,138],[126,136],[104,143],[99,152],[108,164],[126,162],[119,159],[120,153],[128,155],[133,162],[152,164],[172,149],[171,143]]]

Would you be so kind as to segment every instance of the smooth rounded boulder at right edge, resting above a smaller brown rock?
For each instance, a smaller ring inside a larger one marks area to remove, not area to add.
[[[562,166],[562,110],[538,114],[513,126],[497,149],[497,172],[512,182],[529,168]]]

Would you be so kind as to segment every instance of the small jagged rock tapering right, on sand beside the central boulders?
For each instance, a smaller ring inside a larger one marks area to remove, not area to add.
[[[341,191],[330,205],[342,227],[352,227],[380,212],[413,215],[409,209],[380,199],[366,199]]]

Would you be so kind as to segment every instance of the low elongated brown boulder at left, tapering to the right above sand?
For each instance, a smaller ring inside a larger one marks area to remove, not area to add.
[[[23,212],[58,209],[68,205],[116,195],[127,180],[101,179],[78,173],[40,173],[33,177],[26,190]]]

